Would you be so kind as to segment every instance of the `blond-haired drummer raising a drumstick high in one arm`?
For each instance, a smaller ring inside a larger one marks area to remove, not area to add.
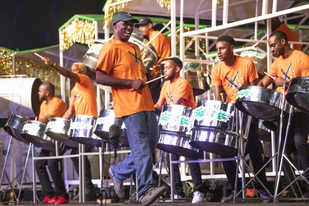
[[[70,105],[66,113],[63,115],[65,119],[71,119],[71,117],[75,115],[88,115],[88,116],[98,116],[97,112],[97,104],[96,104],[96,94],[91,82],[91,79],[86,75],[86,66],[82,62],[75,62],[71,66],[71,71],[53,63],[50,58],[44,57],[42,59],[46,65],[51,65],[54,69],[56,69],[63,76],[72,79],[75,81],[75,86],[71,90],[71,100]],[[85,151],[91,152],[93,147],[89,147],[86,145]],[[71,154],[77,154],[78,148],[72,147]],[[78,158],[71,158],[74,163],[75,170],[79,175],[79,161]],[[94,185],[91,181],[91,166],[89,159],[85,155],[85,194],[89,195],[93,192]],[[78,199],[76,196],[74,199]]]

